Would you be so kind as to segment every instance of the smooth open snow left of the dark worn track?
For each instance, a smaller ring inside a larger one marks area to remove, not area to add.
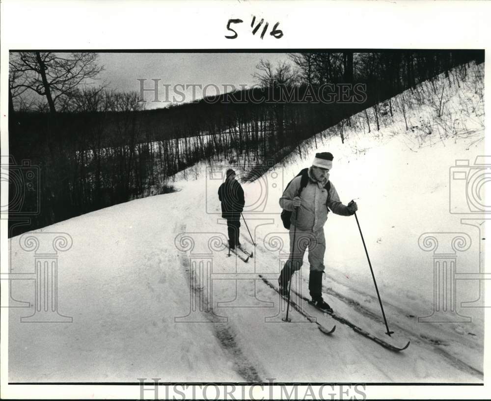
[[[175,248],[167,245],[181,219],[163,217],[183,204],[175,195],[164,202],[128,202],[43,230],[74,239],[70,257],[60,256],[58,275],[59,310],[73,323],[21,323],[32,312],[12,309],[10,381],[243,380],[210,325],[174,322],[189,308],[189,283]],[[110,235],[100,230],[109,226]],[[11,246],[17,269],[32,266],[32,254],[20,249],[18,238]],[[16,282],[13,291],[16,298],[32,299],[29,283]]]

